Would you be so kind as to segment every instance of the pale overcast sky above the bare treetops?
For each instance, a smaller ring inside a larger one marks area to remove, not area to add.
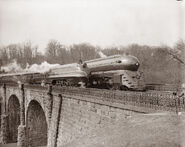
[[[183,9],[176,0],[0,0],[0,45],[173,46],[185,38]]]

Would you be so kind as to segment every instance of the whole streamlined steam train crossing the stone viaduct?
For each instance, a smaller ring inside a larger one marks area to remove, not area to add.
[[[51,84],[113,90],[144,90],[140,62],[135,56],[114,55],[79,63],[59,65],[42,72],[0,74],[0,82]]]

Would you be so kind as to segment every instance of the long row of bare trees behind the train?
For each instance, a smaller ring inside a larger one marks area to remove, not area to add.
[[[44,54],[41,54],[38,47],[30,42],[10,44],[0,47],[0,64],[6,66],[16,61],[22,68],[43,61],[50,64],[67,64],[100,58],[100,51],[106,56],[115,54],[136,56],[141,64],[140,71],[144,73],[147,83],[180,83],[184,79],[185,43],[182,40],[174,47],[131,44],[106,48],[89,43],[66,46],[57,40],[50,40]]]

